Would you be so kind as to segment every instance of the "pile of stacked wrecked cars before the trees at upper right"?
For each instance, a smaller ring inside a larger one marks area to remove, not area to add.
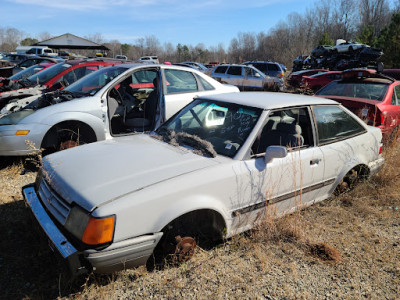
[[[335,47],[328,45],[316,47],[304,60],[296,58],[293,61],[293,72],[316,68],[343,71],[351,68],[376,67],[379,58],[383,55],[381,49],[341,41]]]

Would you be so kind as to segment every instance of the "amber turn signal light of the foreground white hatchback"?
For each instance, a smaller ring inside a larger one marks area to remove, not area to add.
[[[115,216],[98,219],[90,217],[82,236],[82,242],[88,245],[100,245],[113,240]]]

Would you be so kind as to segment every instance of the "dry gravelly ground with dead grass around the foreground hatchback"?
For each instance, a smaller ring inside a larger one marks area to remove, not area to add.
[[[266,219],[180,266],[71,279],[25,207],[35,169],[0,161],[2,299],[399,299],[400,146],[356,189]]]

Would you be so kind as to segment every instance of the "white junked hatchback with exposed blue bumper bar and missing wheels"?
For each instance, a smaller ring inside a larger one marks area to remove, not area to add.
[[[74,274],[112,272],[152,254],[184,259],[195,243],[180,247],[181,238],[230,238],[268,210],[282,215],[350,188],[382,165],[381,140],[332,100],[200,96],[152,134],[47,156],[23,194]]]

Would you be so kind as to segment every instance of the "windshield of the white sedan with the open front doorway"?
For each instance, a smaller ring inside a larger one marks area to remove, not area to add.
[[[115,66],[109,68],[102,68],[96,72],[83,77],[64,89],[73,93],[85,93],[94,95],[97,91],[102,89],[107,83],[111,82],[118,75],[128,70],[124,66]]]

